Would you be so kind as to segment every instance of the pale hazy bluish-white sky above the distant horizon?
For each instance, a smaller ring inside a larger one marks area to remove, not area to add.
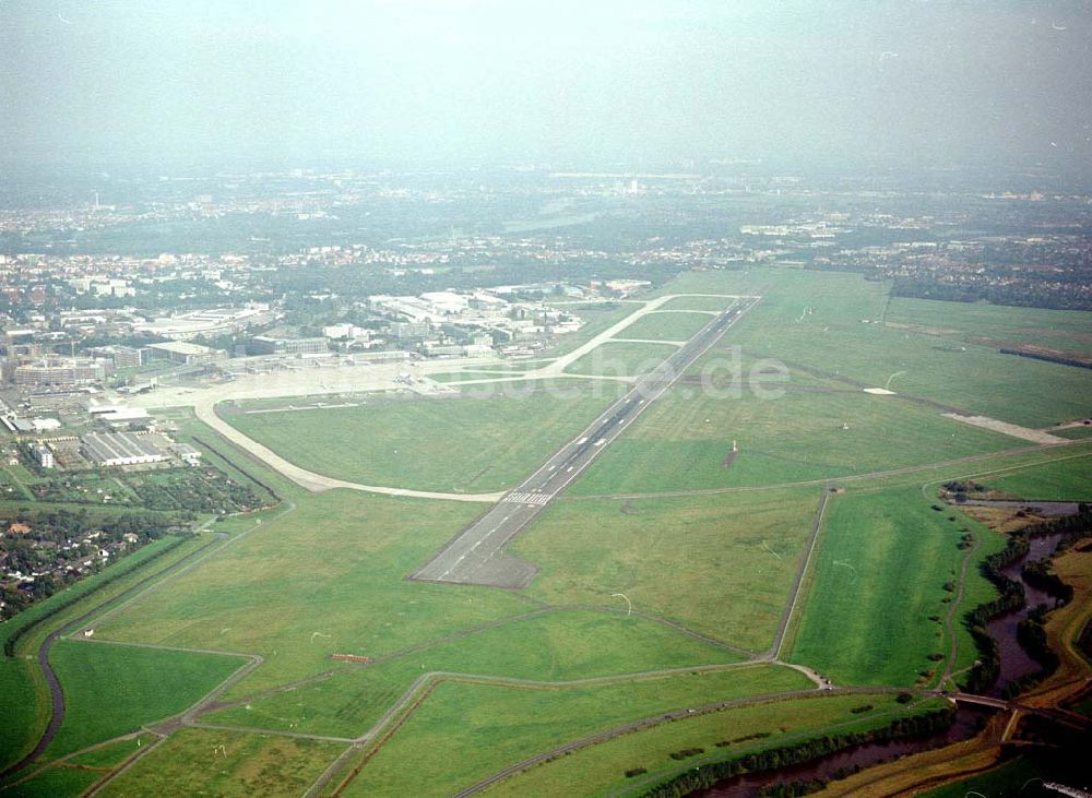
[[[0,158],[1092,162],[1090,0],[0,0]]]

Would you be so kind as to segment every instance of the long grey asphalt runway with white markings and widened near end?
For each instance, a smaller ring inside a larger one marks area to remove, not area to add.
[[[509,540],[526,528],[757,301],[757,298],[740,299],[715,317],[652,372],[638,379],[633,388],[600,414],[583,432],[559,449],[519,487],[506,493],[411,579],[492,587],[526,586],[536,569],[505,552]]]

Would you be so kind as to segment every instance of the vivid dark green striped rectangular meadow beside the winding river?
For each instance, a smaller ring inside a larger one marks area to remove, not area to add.
[[[913,489],[851,489],[827,513],[791,662],[835,683],[909,687],[939,672],[927,657],[947,655],[948,641],[931,617],[954,597],[945,584],[958,579],[960,528],[971,522]]]

